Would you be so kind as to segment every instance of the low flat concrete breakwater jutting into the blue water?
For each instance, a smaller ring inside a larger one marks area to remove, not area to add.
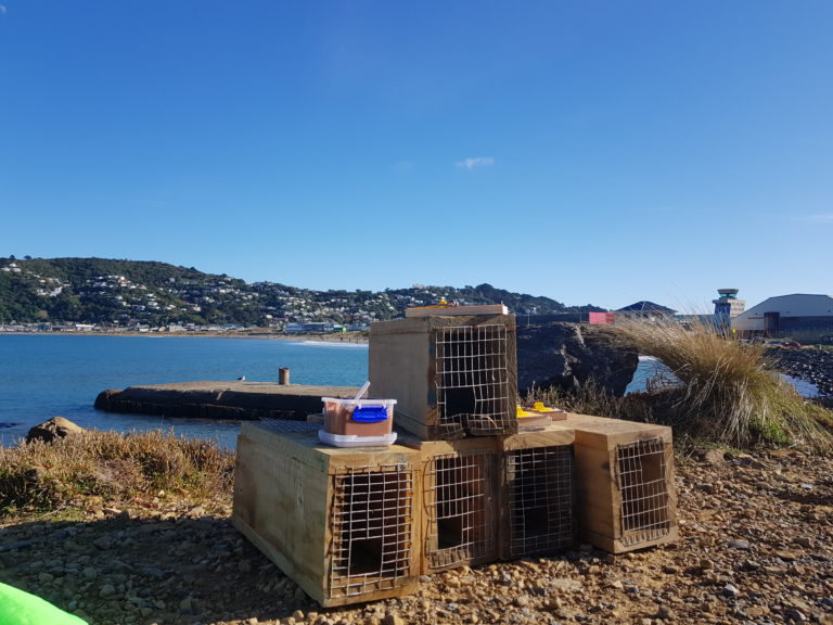
[[[309,386],[270,382],[181,382],[108,388],[95,408],[194,419],[306,419],[321,412],[321,397],[353,397],[356,386]]]

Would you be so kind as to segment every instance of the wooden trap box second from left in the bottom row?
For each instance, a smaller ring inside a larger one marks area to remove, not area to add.
[[[422,573],[498,560],[498,438],[401,443],[421,455]]]

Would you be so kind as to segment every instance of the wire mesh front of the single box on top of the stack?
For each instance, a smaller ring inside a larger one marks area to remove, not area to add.
[[[505,326],[465,326],[435,331],[439,425],[474,435],[513,429]]]

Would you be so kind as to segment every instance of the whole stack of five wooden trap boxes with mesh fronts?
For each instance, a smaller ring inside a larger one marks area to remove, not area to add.
[[[243,426],[234,524],[321,605],[579,539],[614,553],[676,539],[670,430],[569,413],[518,430],[514,316],[487,312],[371,327],[371,390],[396,399],[396,445]]]

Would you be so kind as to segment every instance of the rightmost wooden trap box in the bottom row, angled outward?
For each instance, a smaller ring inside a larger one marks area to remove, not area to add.
[[[671,429],[568,413],[581,539],[620,553],[678,538]]]

